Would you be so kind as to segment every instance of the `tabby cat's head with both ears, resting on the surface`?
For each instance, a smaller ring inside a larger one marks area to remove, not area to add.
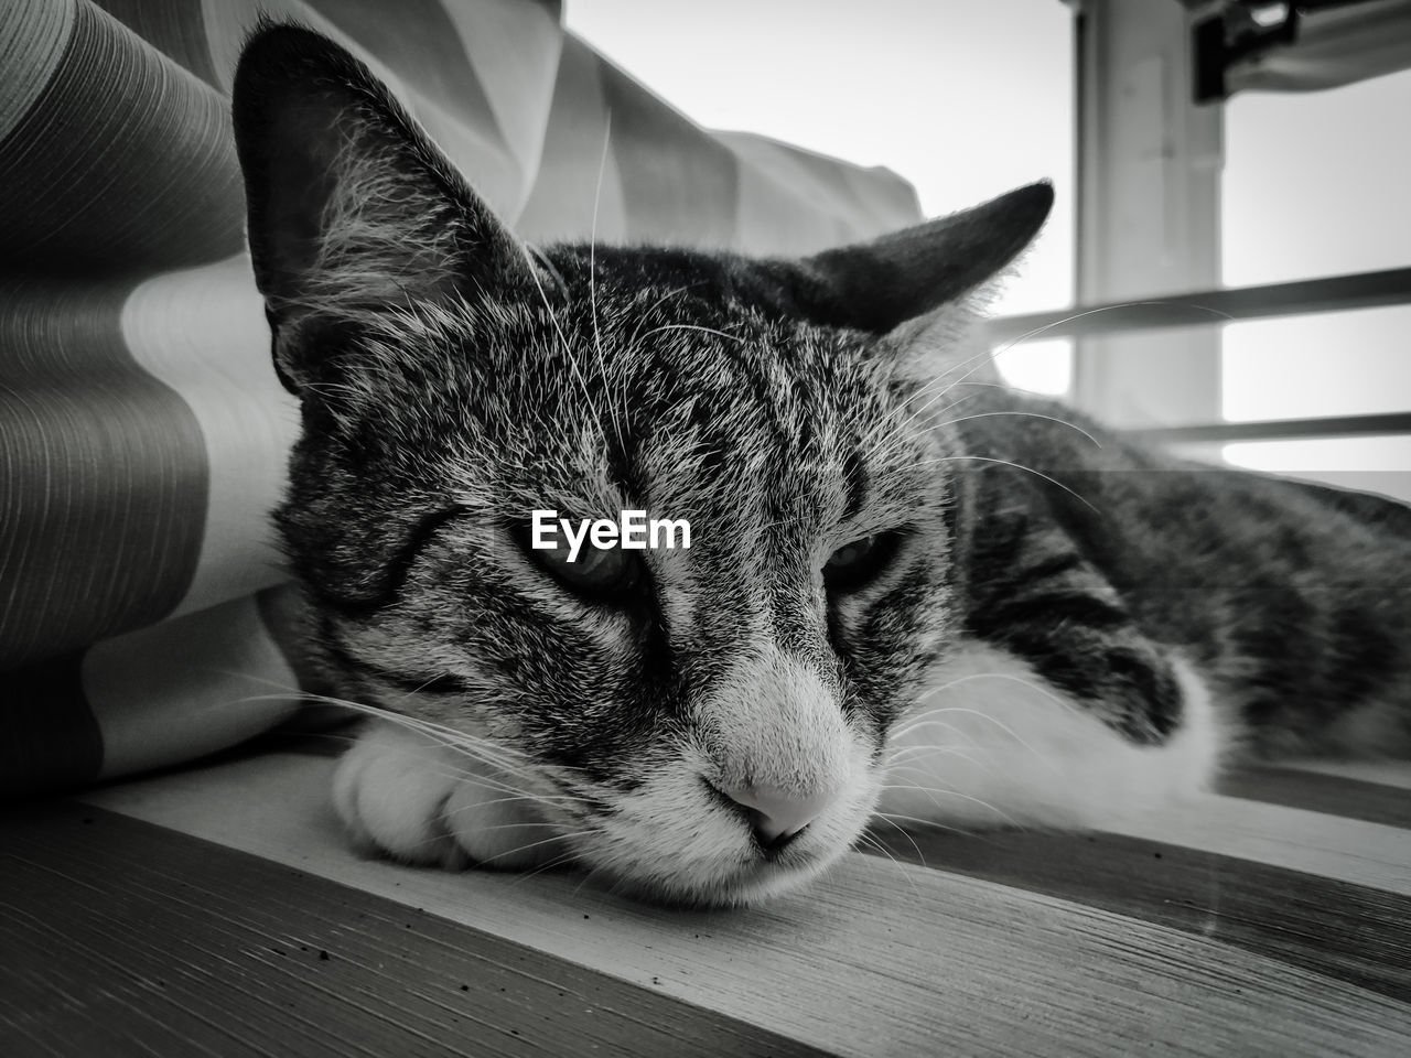
[[[257,34],[234,117],[303,412],[277,518],[340,693],[459,732],[645,896],[749,900],[851,846],[952,632],[971,295],[1047,185],[797,261],[529,250],[322,37]],[[690,547],[570,563],[545,509]]]

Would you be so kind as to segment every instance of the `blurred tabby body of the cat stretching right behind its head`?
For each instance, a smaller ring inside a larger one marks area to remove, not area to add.
[[[1195,666],[1237,756],[1411,749],[1411,509],[1173,458],[1022,394],[989,389],[962,408],[975,416],[961,423],[968,454],[1024,468],[975,477],[968,632],[1110,701],[1065,659],[1092,652],[1050,649],[1070,595],[1077,622],[1108,629],[1112,646],[1125,625],[1091,607],[1094,584],[1134,633]],[[1036,580],[1036,566],[1051,571]]]

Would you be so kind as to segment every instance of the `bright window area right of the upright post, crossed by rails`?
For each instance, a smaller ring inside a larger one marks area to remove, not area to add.
[[[1411,71],[1226,104],[1223,271],[1230,286],[1411,264]],[[1233,323],[1221,364],[1226,419],[1411,411],[1411,306]],[[1411,499],[1411,437],[1242,442],[1228,461]]]

